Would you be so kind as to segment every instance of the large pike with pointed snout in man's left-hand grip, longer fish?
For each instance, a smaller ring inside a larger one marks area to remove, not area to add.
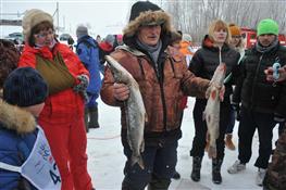
[[[127,99],[127,141],[133,151],[132,165],[138,163],[144,168],[141,152],[144,152],[144,127],[147,119],[142,97],[137,81],[133,76],[112,56],[105,55],[108,65],[116,83],[125,84],[129,87],[129,98]]]

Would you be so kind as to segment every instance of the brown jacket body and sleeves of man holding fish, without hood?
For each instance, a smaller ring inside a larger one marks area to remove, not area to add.
[[[148,134],[179,128],[182,115],[179,104],[183,96],[204,97],[209,86],[209,80],[196,77],[183,63],[184,56],[181,53],[174,53],[174,49],[171,49],[169,47],[164,52],[161,80],[157,77],[149,56],[142,52],[122,47],[111,54],[139,85],[148,116],[148,122],[145,124],[145,132]],[[114,99],[113,83],[111,71],[107,68],[101,99],[109,105],[121,106],[122,127],[126,128],[125,107],[122,102]]]

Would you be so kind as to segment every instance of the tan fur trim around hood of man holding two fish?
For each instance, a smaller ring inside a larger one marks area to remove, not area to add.
[[[130,40],[134,39],[136,33],[138,31],[140,26],[144,25],[152,25],[152,24],[161,24],[162,31],[161,36],[169,34],[172,31],[171,26],[171,17],[167,13],[159,10],[159,11],[146,11],[141,12],[139,16],[135,20],[130,21],[129,24],[123,30],[123,41],[125,45],[129,46]]]

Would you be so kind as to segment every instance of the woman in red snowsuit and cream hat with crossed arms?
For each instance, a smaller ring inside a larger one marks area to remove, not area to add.
[[[67,46],[54,38],[52,17],[30,10],[23,18],[25,48],[18,66],[36,68],[49,86],[49,97],[38,123],[49,140],[60,168],[63,190],[90,190],[84,93],[89,74]]]

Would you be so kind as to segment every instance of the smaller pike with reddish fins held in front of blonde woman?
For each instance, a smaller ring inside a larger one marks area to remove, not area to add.
[[[211,79],[211,85],[208,88],[207,94],[209,94],[208,103],[203,112],[203,118],[207,122],[208,135],[210,145],[208,150],[209,157],[216,157],[216,139],[220,136],[220,106],[223,101],[223,94],[220,93],[223,87],[225,78],[226,65],[221,63]]]

